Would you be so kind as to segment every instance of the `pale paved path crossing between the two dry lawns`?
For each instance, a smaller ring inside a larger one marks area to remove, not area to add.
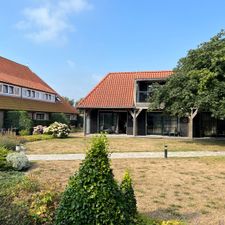
[[[55,160],[82,160],[85,154],[45,154],[45,155],[27,155],[31,161],[55,161]],[[168,157],[188,158],[188,157],[206,157],[206,156],[225,156],[224,152],[219,151],[187,151],[187,152],[169,152]],[[141,159],[141,158],[163,158],[164,152],[123,152],[112,153],[112,159]]]

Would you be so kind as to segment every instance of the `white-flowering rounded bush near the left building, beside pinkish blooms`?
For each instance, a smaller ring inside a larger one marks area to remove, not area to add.
[[[52,134],[53,137],[66,138],[69,136],[70,129],[66,124],[55,122],[44,129],[44,134]]]

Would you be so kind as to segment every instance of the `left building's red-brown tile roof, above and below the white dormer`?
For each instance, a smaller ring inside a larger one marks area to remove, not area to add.
[[[27,87],[57,95],[61,102],[51,103],[22,99],[17,97],[0,96],[0,109],[27,110],[41,112],[77,113],[77,110],[57,94],[40,77],[33,73],[27,66],[21,65],[0,56],[0,82]]]

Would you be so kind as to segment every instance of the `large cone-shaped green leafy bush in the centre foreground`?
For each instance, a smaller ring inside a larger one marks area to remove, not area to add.
[[[127,225],[131,215],[125,201],[110,168],[107,139],[101,135],[93,139],[79,171],[70,178],[57,210],[56,224]]]

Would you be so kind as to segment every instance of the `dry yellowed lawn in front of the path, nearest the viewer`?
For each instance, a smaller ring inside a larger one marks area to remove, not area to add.
[[[28,174],[41,186],[51,184],[55,190],[63,191],[79,164],[79,161],[36,162]],[[199,225],[225,220],[224,165],[223,157],[112,160],[118,181],[126,169],[130,171],[141,214],[160,220],[181,219],[188,224],[199,221]]]

